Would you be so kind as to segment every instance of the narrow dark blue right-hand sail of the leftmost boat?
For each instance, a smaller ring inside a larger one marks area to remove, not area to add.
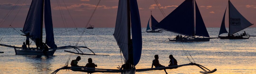
[[[52,27],[50,0],[45,0],[45,32],[46,32],[45,43],[51,48],[56,48],[57,46],[55,45],[55,42],[54,42],[54,34],[53,34],[53,27]]]

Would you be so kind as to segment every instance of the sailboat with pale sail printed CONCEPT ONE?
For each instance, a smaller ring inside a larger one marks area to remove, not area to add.
[[[244,18],[243,15],[238,12],[238,10],[234,7],[234,5],[229,0],[228,0],[229,32],[227,32],[225,27],[226,10],[220,26],[219,38],[220,39],[249,39],[250,35],[246,34],[245,31],[243,34],[235,34],[235,33],[253,24],[250,23],[248,20],[246,20],[246,18]],[[223,34],[223,33],[228,33],[228,36],[220,36],[220,34]],[[247,36],[247,37],[244,37],[244,36]]]

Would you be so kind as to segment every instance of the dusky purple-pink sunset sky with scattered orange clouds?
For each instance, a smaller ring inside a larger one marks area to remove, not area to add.
[[[19,2],[12,11],[11,9],[17,1]],[[31,1],[0,0],[0,21],[2,21],[0,27],[9,27],[9,25],[23,27]],[[62,10],[60,10],[57,1]],[[118,1],[101,0],[89,24],[95,27],[115,27]],[[183,1],[185,0],[157,0],[166,15],[171,13]],[[256,24],[256,0],[230,1],[249,22]],[[99,0],[51,0],[53,27],[85,27],[98,2]],[[196,2],[206,27],[220,27],[228,0],[196,0]],[[137,0],[137,3],[142,27],[146,27],[151,15],[150,11],[152,11],[152,15],[158,22],[164,18],[154,0]],[[61,14],[63,15],[61,16]],[[15,16],[16,18],[14,19]],[[227,14],[226,18],[228,18]],[[228,27],[228,19],[226,19],[225,23],[226,27]],[[256,27],[256,25],[251,27]]]

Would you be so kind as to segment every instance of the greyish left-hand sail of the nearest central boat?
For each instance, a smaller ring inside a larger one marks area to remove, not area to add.
[[[129,59],[127,19],[127,1],[119,0],[115,31],[113,35],[126,61]]]

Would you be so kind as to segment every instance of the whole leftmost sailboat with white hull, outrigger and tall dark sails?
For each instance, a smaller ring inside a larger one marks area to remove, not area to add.
[[[0,44],[0,46],[14,48],[16,55],[37,55],[37,56],[43,56],[43,55],[53,56],[55,51],[59,49],[76,49],[77,50],[78,48],[87,48],[84,46],[57,47],[57,45],[54,42],[50,0],[32,0],[23,30],[20,30],[20,31],[25,35],[29,33],[30,35],[29,38],[33,42],[36,43],[36,39],[38,39],[39,43],[42,43],[43,17],[44,17],[45,31],[46,31],[45,43],[50,47],[48,51],[45,51],[45,49],[22,48],[22,47],[16,47],[16,46],[5,45],[5,44]],[[95,54],[92,54],[92,55],[95,55]]]

